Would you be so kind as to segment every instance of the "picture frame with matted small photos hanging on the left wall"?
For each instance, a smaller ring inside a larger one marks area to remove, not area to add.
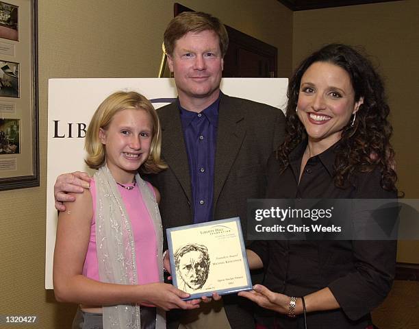
[[[0,191],[39,186],[38,1],[0,1]]]

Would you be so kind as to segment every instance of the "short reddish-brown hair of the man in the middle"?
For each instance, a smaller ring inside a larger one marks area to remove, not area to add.
[[[220,40],[221,55],[224,57],[229,47],[229,35],[223,23],[205,12],[182,12],[177,15],[164,32],[164,52],[173,55],[175,43],[188,32],[214,31]]]

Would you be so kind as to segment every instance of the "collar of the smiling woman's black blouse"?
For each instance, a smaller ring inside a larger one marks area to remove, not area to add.
[[[320,160],[331,177],[335,175],[336,150],[338,149],[339,144],[340,141],[336,142],[331,147],[329,147],[329,149],[326,149],[322,153],[312,158],[312,160],[315,161]],[[294,171],[294,175],[296,177],[299,177],[301,159],[303,158],[305,147],[307,147],[307,138],[305,138],[299,145],[297,145],[288,156],[291,169]]]

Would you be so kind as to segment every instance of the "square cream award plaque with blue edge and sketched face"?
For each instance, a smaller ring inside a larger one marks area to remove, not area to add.
[[[166,229],[173,285],[187,300],[251,290],[238,217]]]

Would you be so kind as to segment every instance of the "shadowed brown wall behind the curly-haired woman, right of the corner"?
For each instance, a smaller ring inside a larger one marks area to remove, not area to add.
[[[294,12],[292,64],[329,42],[364,47],[385,79],[394,128],[398,188],[419,197],[419,1]],[[398,244],[398,261],[419,264],[419,241]]]

